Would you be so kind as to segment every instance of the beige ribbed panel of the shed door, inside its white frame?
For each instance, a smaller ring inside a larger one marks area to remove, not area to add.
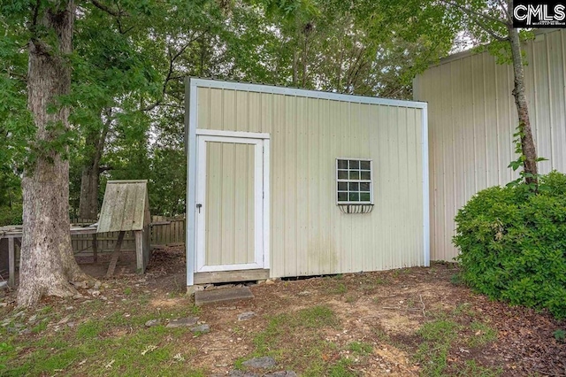
[[[207,142],[206,265],[254,262],[254,149]]]

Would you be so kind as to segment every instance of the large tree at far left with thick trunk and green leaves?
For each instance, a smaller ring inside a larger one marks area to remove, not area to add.
[[[7,147],[14,150],[8,154],[12,161],[25,157],[20,306],[32,305],[44,295],[71,296],[76,293],[71,282],[90,280],[76,264],[71,246],[69,145],[80,147],[78,136],[85,135],[82,146],[89,144],[85,159],[95,166],[96,176],[104,134],[114,120],[123,120],[119,122],[120,133],[136,135],[145,148],[148,122],[140,127],[136,120],[141,111],[149,112],[163,103],[172,71],[165,70],[168,74],[162,79],[156,69],[143,63],[152,58],[160,61],[161,56],[178,51],[163,50],[161,55],[145,59],[136,51],[142,43],[163,46],[159,42],[172,35],[168,20],[188,22],[185,16],[202,16],[206,4],[106,4],[98,0],[79,4],[69,0],[2,3],[0,30],[4,39],[0,54],[4,61],[0,64],[0,85],[8,98],[0,105],[0,112],[6,115],[0,120],[0,131],[7,137]],[[175,25],[180,38],[187,39],[189,34],[183,35],[187,27]],[[79,54],[73,52],[77,35],[82,49]],[[131,117],[127,116],[130,109],[135,111]],[[4,152],[0,155],[2,162]],[[97,186],[97,182],[91,185]]]

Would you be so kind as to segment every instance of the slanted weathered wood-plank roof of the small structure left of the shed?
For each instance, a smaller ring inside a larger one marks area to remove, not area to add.
[[[148,181],[108,181],[96,232],[142,230],[148,224]]]

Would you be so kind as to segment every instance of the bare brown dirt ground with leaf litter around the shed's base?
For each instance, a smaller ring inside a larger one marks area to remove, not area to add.
[[[128,295],[149,297],[138,307],[130,307],[130,312],[160,312],[191,304],[184,295],[183,248],[155,250],[144,277],[134,275],[126,265],[117,268],[120,275],[108,280],[103,278],[103,263],[84,268],[108,284],[103,296],[114,303],[98,309],[97,317],[111,316],[124,301],[126,289]],[[191,365],[206,370],[206,375],[226,375],[258,350],[271,350],[278,365],[288,365],[301,374],[312,358],[301,350],[310,350],[313,342],[332,344],[316,358],[325,362],[351,359],[347,368],[354,375],[434,375],[426,365],[432,361],[423,358],[427,352],[423,346],[428,343],[422,328],[427,323],[452,323],[453,334],[448,335],[451,341],[443,355],[446,365],[438,375],[566,375],[566,343],[554,335],[566,327],[563,321],[474,294],[452,282],[456,273],[455,265],[433,264],[430,268],[250,284],[254,299],[203,306],[198,317],[210,325],[210,333],[187,338],[181,348],[186,348]],[[13,310],[11,300],[10,295],[4,297],[4,315]],[[339,323],[312,332],[282,320],[315,305],[329,308]],[[242,312],[256,316],[239,321]],[[278,326],[287,334],[278,333]],[[258,334],[266,336],[263,342],[267,345],[258,340]],[[269,337],[276,335],[281,340],[274,343]],[[369,344],[371,351],[362,356],[352,344]],[[429,353],[436,354],[433,343],[429,345]]]

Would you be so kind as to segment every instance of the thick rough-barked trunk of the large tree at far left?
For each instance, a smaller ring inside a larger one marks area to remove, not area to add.
[[[22,180],[19,306],[36,304],[42,296],[73,296],[76,290],[69,281],[88,279],[80,271],[71,245],[69,162],[64,158],[65,150],[50,145],[69,127],[69,109],[53,111],[51,106],[57,107],[57,97],[67,95],[71,88],[71,67],[65,55],[73,49],[75,5],[73,0],[49,4],[36,10],[28,43],[27,107],[37,129],[31,143],[34,158]],[[34,35],[42,28],[53,32],[53,45]]]

